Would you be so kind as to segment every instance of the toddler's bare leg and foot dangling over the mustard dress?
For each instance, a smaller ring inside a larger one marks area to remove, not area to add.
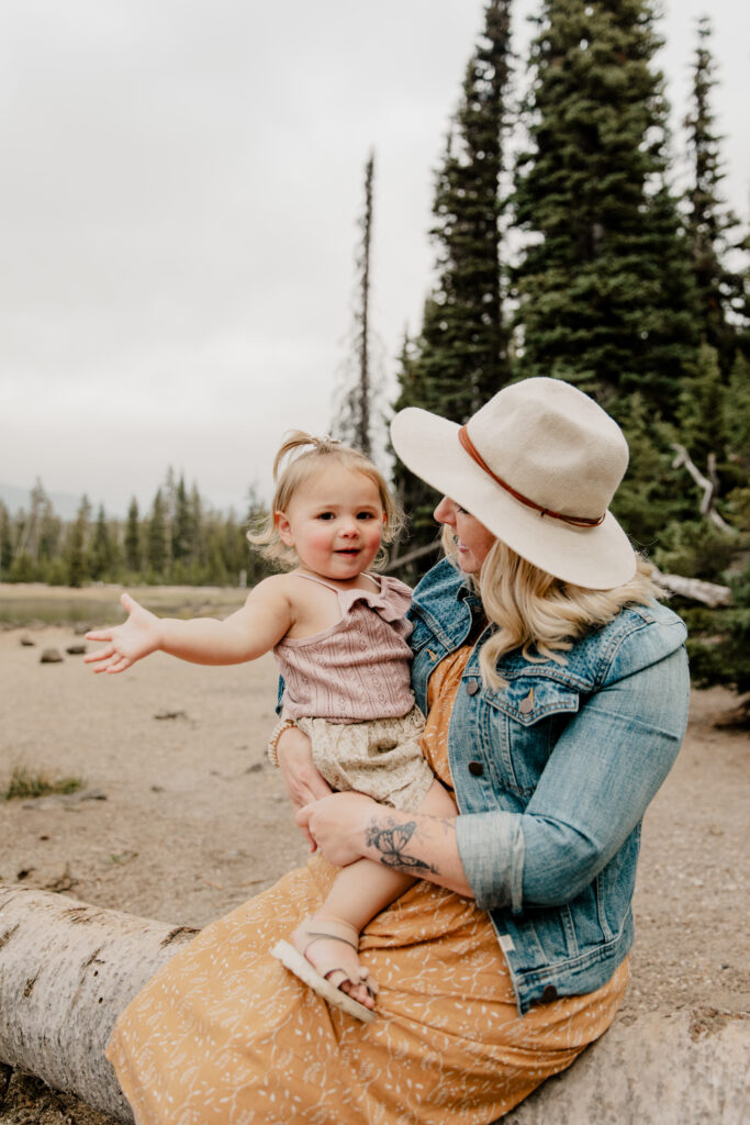
[[[432,817],[454,817],[457,808],[448,790],[439,781],[434,781],[418,811]],[[325,930],[325,920],[329,919],[345,921],[359,933],[416,881],[416,876],[405,875],[373,860],[358,860],[356,863],[342,868],[325,902],[313,915],[313,919],[320,924],[322,930]],[[335,963],[341,965],[344,972],[352,973],[356,979],[360,966],[356,950],[342,942],[317,938],[308,946],[305,955],[316,969],[319,964],[331,964],[335,958]],[[374,1007],[374,1001],[364,984],[345,981],[341,988],[367,1008]]]

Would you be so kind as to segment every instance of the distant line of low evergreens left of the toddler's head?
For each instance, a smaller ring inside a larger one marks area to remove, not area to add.
[[[217,512],[169,469],[143,514],[135,497],[125,520],[101,505],[94,514],[83,496],[75,519],[63,520],[37,480],[27,508],[11,515],[0,501],[0,580],[253,585],[269,573],[246,539],[262,513],[252,492],[242,515]]]

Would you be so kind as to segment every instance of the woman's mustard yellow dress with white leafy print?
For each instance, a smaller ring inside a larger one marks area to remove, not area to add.
[[[431,682],[424,750],[448,785],[468,655]],[[336,872],[313,856],[202,930],[126,1008],[107,1058],[138,1125],[487,1125],[612,1023],[626,962],[598,991],[522,1018],[488,916],[428,882],[362,935],[378,1019],[328,1008],[269,951],[320,906]]]

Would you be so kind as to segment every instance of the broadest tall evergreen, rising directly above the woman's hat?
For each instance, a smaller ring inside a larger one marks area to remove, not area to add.
[[[695,353],[659,46],[649,0],[544,0],[516,168],[517,374],[564,378],[615,414],[640,390],[674,416]]]

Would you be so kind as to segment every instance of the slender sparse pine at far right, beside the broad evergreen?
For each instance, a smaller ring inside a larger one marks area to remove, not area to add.
[[[697,34],[692,108],[685,118],[693,165],[686,225],[701,333],[705,342],[716,349],[725,380],[740,343],[739,334],[742,328],[747,332],[750,323],[747,268],[743,274],[726,266],[728,254],[738,250],[739,222],[721,197],[724,178],[720,153],[722,137],[715,132],[711,108],[716,68],[711,53],[712,29],[707,16],[698,20]]]

